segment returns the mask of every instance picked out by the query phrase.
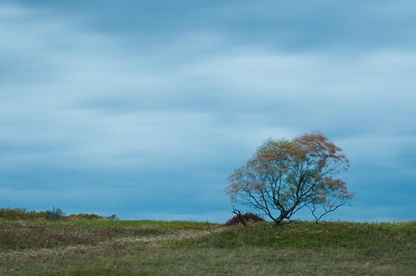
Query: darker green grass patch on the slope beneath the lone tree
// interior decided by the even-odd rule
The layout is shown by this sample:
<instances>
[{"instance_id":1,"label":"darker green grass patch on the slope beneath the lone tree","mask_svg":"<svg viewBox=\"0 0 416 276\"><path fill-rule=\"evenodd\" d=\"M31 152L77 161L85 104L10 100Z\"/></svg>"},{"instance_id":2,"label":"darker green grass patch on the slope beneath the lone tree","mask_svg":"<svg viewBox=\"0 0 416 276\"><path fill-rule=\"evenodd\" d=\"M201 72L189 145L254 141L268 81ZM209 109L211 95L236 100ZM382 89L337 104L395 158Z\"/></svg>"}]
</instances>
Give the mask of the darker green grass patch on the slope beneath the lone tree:
<instances>
[{"instance_id":1,"label":"darker green grass patch on the slope beneath the lone tree","mask_svg":"<svg viewBox=\"0 0 416 276\"><path fill-rule=\"evenodd\" d=\"M310 222L257 223L248 227L234 227L198 242L188 241L178 246L193 248L238 248L252 246L272 249L317 250L342 248L354 251L390 252L413 248L416 222L411 223L328 223Z\"/></svg>"}]
</instances>

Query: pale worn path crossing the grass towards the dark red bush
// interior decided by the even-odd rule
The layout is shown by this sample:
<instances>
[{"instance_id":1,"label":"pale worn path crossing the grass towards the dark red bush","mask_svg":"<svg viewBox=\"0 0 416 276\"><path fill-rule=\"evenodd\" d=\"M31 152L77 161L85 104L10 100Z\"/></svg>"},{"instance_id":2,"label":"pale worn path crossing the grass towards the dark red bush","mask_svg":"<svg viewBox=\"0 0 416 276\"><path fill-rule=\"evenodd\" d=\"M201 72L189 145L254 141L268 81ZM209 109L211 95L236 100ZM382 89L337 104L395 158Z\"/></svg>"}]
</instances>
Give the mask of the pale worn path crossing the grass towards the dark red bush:
<instances>
[{"instance_id":1,"label":"pale worn path crossing the grass towards the dark red bush","mask_svg":"<svg viewBox=\"0 0 416 276\"><path fill-rule=\"evenodd\" d=\"M189 239L197 239L201 236L212 234L220 230L214 230L209 232L207 230L200 231L181 231L173 234L161 234L154 236L129 236L122 238L114 238L109 241L101 241L93 245L68 245L59 248L37 248L37 249L26 249L18 250L13 252L0 253L0 262L15 261L24 259L61 259L76 255L80 252L101 252L106 249L134 245L138 243L164 243L168 241L184 241Z\"/></svg>"}]
</instances>

